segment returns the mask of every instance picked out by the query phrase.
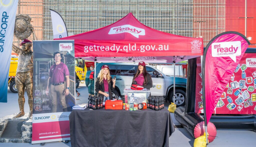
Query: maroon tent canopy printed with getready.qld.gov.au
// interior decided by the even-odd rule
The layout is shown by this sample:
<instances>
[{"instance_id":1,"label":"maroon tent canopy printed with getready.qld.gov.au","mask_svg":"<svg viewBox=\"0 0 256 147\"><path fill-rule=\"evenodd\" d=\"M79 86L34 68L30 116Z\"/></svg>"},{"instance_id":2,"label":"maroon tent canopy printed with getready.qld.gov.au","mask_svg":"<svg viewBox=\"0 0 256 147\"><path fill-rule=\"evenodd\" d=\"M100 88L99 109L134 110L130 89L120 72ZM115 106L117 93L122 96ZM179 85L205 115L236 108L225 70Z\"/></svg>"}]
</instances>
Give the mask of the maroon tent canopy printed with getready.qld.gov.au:
<instances>
[{"instance_id":1,"label":"maroon tent canopy printed with getready.qld.gov.au","mask_svg":"<svg viewBox=\"0 0 256 147\"><path fill-rule=\"evenodd\" d=\"M180 62L203 55L204 48L202 38L158 31L132 13L104 28L55 40L75 40L75 57L97 62Z\"/></svg>"}]
</instances>

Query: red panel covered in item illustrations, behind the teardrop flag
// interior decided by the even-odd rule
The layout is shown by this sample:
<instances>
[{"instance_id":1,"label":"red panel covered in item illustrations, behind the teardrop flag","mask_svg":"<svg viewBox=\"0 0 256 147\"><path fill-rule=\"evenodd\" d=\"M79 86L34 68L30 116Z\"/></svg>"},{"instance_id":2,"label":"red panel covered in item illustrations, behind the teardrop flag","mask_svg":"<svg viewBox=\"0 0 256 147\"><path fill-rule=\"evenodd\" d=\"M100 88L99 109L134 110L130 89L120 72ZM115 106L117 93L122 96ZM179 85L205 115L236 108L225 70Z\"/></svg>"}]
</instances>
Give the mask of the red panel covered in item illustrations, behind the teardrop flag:
<instances>
[{"instance_id":1,"label":"red panel covered in item illustrations, behind the teardrop flag","mask_svg":"<svg viewBox=\"0 0 256 147\"><path fill-rule=\"evenodd\" d=\"M196 113L204 113L200 58L197 59ZM256 114L256 54L245 53L221 94L214 114Z\"/></svg>"}]
</instances>

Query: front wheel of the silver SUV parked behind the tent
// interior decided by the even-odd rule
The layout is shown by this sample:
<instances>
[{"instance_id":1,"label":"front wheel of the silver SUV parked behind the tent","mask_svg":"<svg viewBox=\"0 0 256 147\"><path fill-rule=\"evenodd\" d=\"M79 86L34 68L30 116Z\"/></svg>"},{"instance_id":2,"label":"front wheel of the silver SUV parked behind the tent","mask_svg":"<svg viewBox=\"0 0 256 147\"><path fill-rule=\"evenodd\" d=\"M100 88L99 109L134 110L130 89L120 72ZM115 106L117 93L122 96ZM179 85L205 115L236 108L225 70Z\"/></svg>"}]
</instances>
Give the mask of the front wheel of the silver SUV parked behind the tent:
<instances>
[{"instance_id":1,"label":"front wheel of the silver SUV parked behind the tent","mask_svg":"<svg viewBox=\"0 0 256 147\"><path fill-rule=\"evenodd\" d=\"M174 102L173 91L168 96L169 103ZM175 90L176 107L184 106L186 102L186 92L180 89Z\"/></svg>"}]
</instances>

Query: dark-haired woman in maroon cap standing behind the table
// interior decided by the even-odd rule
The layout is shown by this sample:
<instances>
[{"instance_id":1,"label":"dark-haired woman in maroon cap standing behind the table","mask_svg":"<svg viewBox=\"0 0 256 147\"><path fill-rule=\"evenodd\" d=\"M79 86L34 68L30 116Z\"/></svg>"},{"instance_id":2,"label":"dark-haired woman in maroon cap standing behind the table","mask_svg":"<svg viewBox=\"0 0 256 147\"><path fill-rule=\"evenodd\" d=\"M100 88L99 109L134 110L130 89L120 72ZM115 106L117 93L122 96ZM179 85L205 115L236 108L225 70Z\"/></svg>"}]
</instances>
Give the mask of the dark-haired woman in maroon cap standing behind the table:
<instances>
[{"instance_id":1,"label":"dark-haired woman in maroon cap standing behind the table","mask_svg":"<svg viewBox=\"0 0 256 147\"><path fill-rule=\"evenodd\" d=\"M136 81L136 82L135 82ZM137 84L136 84L137 83ZM143 86L147 90L153 87L151 75L146 71L145 62L139 62L137 73L134 75L133 83L136 85Z\"/></svg>"}]
</instances>

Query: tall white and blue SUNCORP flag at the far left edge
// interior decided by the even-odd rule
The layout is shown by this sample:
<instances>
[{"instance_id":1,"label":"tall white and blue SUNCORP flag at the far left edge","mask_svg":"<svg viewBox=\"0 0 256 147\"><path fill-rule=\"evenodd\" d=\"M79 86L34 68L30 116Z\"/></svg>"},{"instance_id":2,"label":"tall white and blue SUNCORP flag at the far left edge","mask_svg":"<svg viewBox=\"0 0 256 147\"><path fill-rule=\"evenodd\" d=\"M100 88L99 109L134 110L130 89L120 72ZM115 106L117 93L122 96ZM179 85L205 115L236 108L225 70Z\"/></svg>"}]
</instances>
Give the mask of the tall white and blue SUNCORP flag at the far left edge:
<instances>
[{"instance_id":1,"label":"tall white and blue SUNCORP flag at the far left edge","mask_svg":"<svg viewBox=\"0 0 256 147\"><path fill-rule=\"evenodd\" d=\"M0 0L0 102L7 102L9 68L18 0Z\"/></svg>"}]
</instances>

